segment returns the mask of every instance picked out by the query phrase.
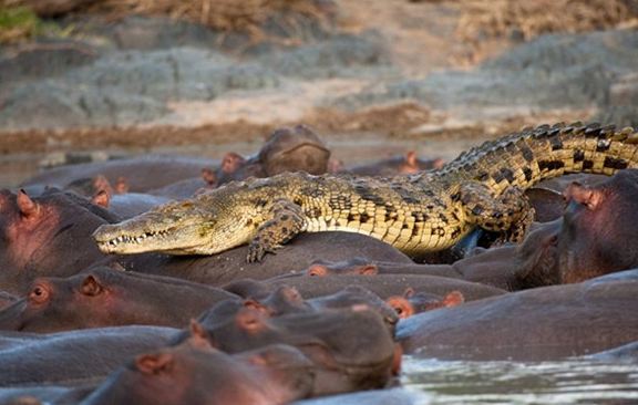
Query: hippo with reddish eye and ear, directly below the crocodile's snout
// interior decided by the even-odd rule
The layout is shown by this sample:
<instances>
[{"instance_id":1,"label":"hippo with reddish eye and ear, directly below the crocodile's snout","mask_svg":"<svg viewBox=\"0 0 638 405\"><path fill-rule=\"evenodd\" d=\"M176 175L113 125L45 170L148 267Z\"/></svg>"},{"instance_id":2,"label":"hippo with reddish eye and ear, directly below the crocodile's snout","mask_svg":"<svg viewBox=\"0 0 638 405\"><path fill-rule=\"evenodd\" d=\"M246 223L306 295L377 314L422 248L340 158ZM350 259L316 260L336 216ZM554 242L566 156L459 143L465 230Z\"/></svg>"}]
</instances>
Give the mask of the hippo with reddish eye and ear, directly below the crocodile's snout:
<instances>
[{"instance_id":1,"label":"hippo with reddish eye and ear, directly below the crocodile's snout","mask_svg":"<svg viewBox=\"0 0 638 405\"><path fill-rule=\"evenodd\" d=\"M148 324L182 328L225 290L167 277L99 267L66 279L40 278L23 299L0 311L0 330L59 332Z\"/></svg>"}]
</instances>

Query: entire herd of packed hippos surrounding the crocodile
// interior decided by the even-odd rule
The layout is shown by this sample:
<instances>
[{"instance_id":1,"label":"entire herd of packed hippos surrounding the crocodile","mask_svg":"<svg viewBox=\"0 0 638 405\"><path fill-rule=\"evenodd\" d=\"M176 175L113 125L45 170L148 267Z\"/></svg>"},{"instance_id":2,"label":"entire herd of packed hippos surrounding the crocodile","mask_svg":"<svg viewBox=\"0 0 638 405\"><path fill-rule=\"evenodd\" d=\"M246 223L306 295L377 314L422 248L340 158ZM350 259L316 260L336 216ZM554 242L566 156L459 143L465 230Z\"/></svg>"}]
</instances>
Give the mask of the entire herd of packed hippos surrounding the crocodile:
<instances>
[{"instance_id":1,"label":"entire herd of packed hippos surrounding the crocodile","mask_svg":"<svg viewBox=\"0 0 638 405\"><path fill-rule=\"evenodd\" d=\"M526 191L536 221L521 243L474 232L419 260L338 231L261 262L246 246L105 255L91 238L249 176L440 165L409 153L348 167L300 125L250 157L63 166L0 191L0 403L337 404L377 390L361 403L381 404L395 403L403 354L638 359L636 169L544 181Z\"/></svg>"}]
</instances>

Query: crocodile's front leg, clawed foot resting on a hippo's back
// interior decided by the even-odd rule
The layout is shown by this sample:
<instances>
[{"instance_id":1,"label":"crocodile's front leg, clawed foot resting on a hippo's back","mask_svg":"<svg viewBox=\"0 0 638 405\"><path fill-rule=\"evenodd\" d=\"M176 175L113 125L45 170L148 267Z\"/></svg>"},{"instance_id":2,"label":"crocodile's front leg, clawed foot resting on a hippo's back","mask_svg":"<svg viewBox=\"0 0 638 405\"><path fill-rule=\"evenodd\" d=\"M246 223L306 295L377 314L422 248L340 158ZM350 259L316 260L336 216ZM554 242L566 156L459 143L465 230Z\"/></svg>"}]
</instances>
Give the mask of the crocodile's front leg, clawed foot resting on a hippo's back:
<instances>
[{"instance_id":1,"label":"crocodile's front leg, clawed foot resting on a hippo's back","mask_svg":"<svg viewBox=\"0 0 638 405\"><path fill-rule=\"evenodd\" d=\"M248 246L248 262L261 261L267 252L277 249L306 229L301 207L287 199L278 199L267 215L268 219L258 229Z\"/></svg>"}]
</instances>

